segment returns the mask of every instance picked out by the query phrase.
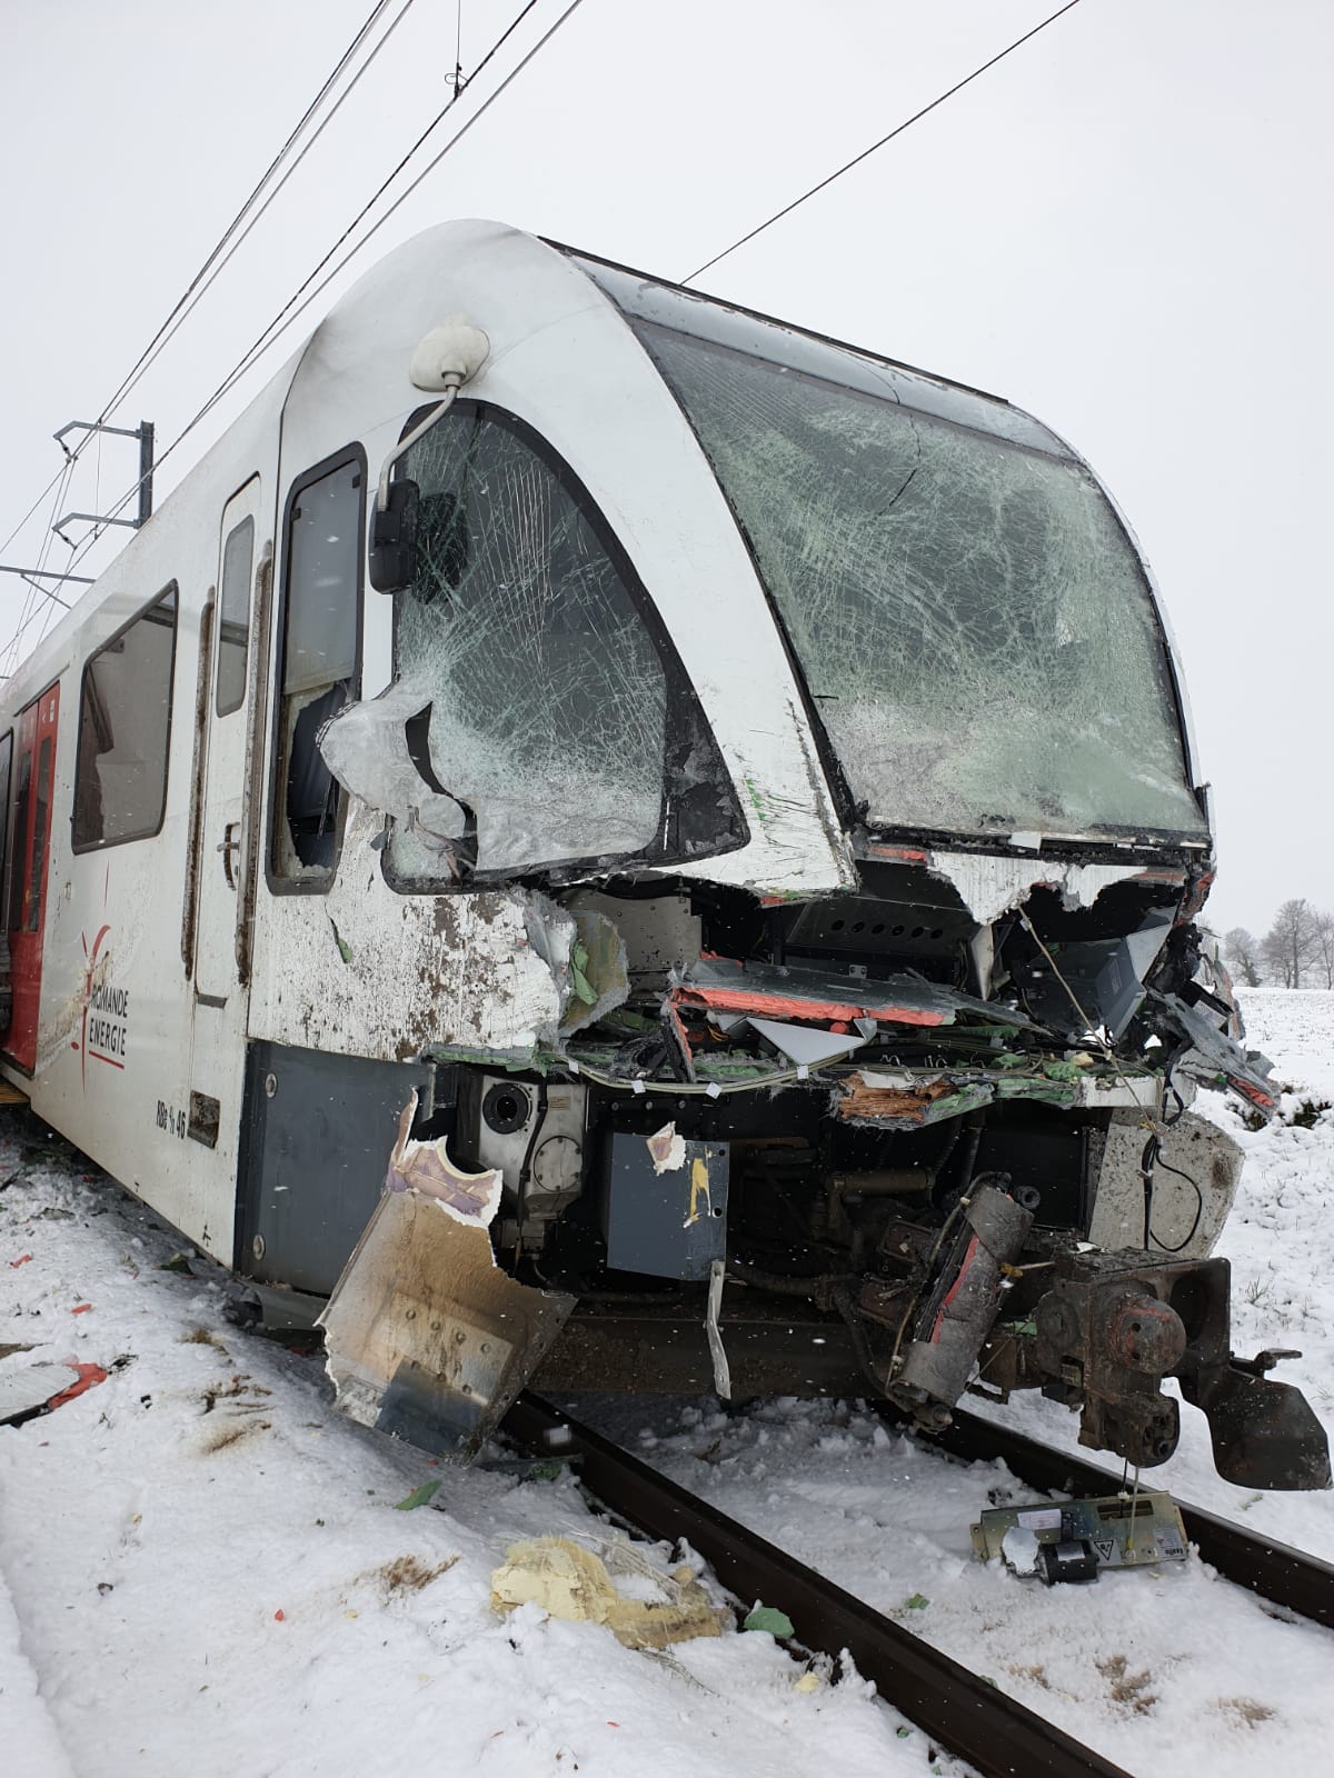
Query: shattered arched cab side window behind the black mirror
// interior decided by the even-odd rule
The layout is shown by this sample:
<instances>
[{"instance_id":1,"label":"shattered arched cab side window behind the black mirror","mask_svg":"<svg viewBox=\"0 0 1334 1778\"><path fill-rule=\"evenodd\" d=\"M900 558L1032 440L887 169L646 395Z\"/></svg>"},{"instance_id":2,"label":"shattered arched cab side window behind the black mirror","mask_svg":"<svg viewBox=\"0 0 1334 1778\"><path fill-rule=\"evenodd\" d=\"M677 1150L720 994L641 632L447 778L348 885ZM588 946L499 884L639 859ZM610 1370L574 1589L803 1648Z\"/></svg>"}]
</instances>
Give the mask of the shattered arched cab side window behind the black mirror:
<instances>
[{"instance_id":1,"label":"shattered arched cab side window behind the black mirror","mask_svg":"<svg viewBox=\"0 0 1334 1778\"><path fill-rule=\"evenodd\" d=\"M432 427L400 475L420 487L420 517L397 669L420 693L422 765L459 805L468 862L660 850L669 672L583 489L526 427L473 402ZM443 875L425 827L395 823L400 884Z\"/></svg>"}]
</instances>

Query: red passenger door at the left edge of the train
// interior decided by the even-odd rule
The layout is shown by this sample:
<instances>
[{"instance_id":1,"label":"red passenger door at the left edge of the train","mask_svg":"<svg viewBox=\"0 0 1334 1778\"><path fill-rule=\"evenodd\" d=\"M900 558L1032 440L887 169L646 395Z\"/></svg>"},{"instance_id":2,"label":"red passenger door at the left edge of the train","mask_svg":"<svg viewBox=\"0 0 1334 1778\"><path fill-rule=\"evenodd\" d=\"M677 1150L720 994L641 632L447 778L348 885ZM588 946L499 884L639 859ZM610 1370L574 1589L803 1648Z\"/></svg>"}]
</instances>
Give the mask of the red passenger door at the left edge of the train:
<instances>
[{"instance_id":1,"label":"red passenger door at the left edge of the train","mask_svg":"<svg viewBox=\"0 0 1334 1778\"><path fill-rule=\"evenodd\" d=\"M60 686L53 685L20 711L14 725L14 848L5 912L14 1012L4 1051L28 1074L37 1065L41 944L46 930L46 861L59 717Z\"/></svg>"}]
</instances>

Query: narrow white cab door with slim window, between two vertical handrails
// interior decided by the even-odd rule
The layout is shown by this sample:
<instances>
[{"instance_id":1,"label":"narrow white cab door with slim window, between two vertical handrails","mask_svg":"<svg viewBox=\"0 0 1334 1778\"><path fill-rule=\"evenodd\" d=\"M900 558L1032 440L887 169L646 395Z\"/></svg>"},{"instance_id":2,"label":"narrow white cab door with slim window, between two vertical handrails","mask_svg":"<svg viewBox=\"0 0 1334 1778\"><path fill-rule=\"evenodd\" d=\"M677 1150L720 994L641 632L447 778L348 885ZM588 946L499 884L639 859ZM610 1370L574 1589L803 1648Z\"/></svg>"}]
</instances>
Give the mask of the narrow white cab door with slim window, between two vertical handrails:
<instances>
[{"instance_id":1,"label":"narrow white cab door with slim window, between two vertical handrails","mask_svg":"<svg viewBox=\"0 0 1334 1778\"><path fill-rule=\"evenodd\" d=\"M258 526L260 477L256 475L222 509L213 674L205 715L208 745L199 823L194 985L197 1001L219 1008L240 992L237 937L244 917L244 887L238 885L242 855L249 855L249 846L242 846L242 823L253 813L245 784L247 702L254 677L249 669L251 651L263 649L263 638L253 635L251 610Z\"/></svg>"}]
</instances>

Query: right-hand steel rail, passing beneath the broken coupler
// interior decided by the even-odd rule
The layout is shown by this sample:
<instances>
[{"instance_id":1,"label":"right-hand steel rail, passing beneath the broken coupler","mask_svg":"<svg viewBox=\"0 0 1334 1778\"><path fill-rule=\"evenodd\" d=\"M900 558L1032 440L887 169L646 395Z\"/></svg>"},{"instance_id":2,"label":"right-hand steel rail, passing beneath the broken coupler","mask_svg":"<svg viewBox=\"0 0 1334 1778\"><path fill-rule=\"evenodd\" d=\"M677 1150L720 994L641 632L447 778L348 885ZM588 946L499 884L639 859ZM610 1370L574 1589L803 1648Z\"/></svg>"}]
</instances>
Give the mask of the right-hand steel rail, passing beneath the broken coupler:
<instances>
[{"instance_id":1,"label":"right-hand steel rail, passing beneath the broken coupler","mask_svg":"<svg viewBox=\"0 0 1334 1778\"><path fill-rule=\"evenodd\" d=\"M907 1426L907 1417L888 1403L873 1401L870 1406L900 1430ZM941 1433L923 1433L921 1442L939 1446L950 1456L969 1463L1000 1458L1030 1488L1046 1492L1106 1495L1119 1494L1122 1485L1122 1478L1112 1470L1087 1463L1069 1451L1055 1451L975 1414L955 1412L952 1426ZM1334 1629L1332 1563L1307 1556L1290 1543L1279 1543L1277 1538L1243 1531L1242 1526L1202 1506L1188 1506L1185 1501L1176 1504L1190 1542L1227 1581L1259 1593L1274 1606L1311 1618L1313 1623Z\"/></svg>"}]
</instances>

